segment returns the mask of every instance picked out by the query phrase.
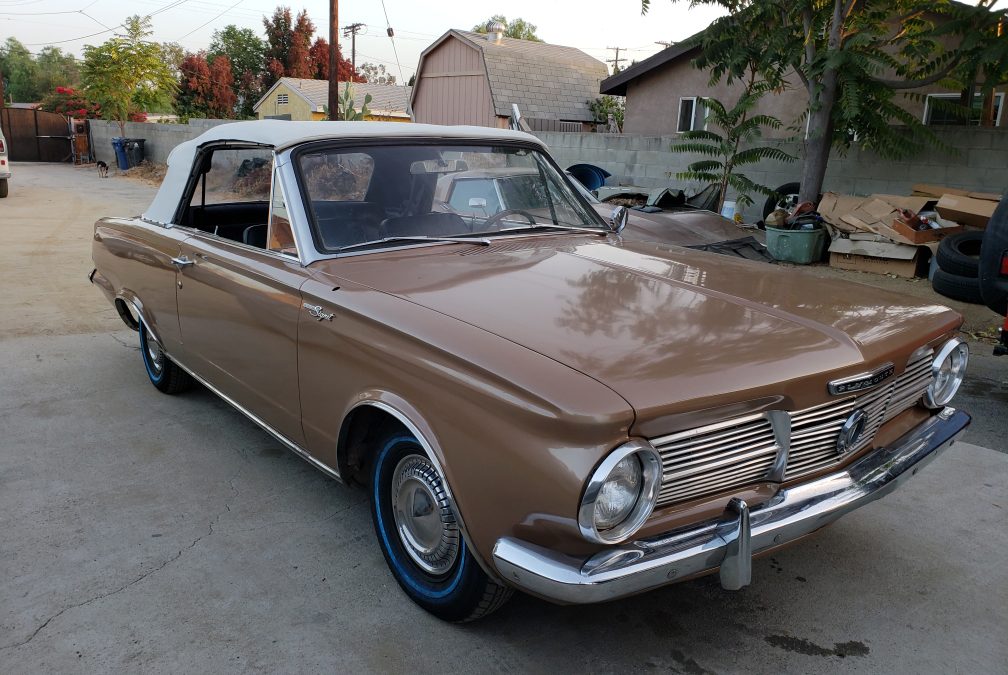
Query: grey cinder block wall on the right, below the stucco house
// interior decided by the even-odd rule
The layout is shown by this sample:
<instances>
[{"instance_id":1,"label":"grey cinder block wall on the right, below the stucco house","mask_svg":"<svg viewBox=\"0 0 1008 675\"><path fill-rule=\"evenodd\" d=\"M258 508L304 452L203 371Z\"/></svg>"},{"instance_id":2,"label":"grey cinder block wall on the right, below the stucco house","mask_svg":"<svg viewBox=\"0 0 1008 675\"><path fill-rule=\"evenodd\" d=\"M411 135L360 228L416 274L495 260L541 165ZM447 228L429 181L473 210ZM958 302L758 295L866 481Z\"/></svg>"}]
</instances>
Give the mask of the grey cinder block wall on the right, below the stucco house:
<instances>
[{"instance_id":1,"label":"grey cinder block wall on the right, below the stucco house","mask_svg":"<svg viewBox=\"0 0 1008 675\"><path fill-rule=\"evenodd\" d=\"M687 190L699 186L674 176L700 159L697 155L673 153L669 147L675 136L634 136L616 134L569 134L535 132L560 166L581 162L596 164L613 174L610 184L661 187L673 185ZM908 194L915 182L928 182L984 192L1008 189L1008 130L944 129L938 138L948 146L934 148L902 160L882 159L871 150L856 146L846 156L836 153L830 160L824 189L852 194ZM798 142L764 141L801 156ZM760 162L743 172L758 183L777 187L797 181L801 165ZM729 194L728 198L733 198ZM765 197L753 195L755 204L746 219L762 216Z\"/></svg>"}]
</instances>

